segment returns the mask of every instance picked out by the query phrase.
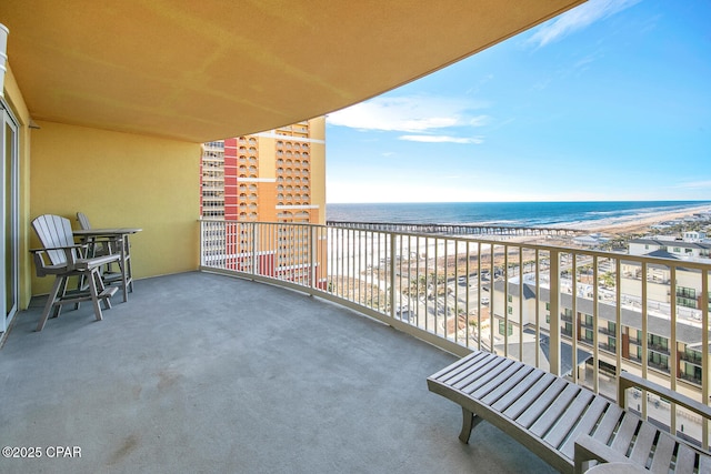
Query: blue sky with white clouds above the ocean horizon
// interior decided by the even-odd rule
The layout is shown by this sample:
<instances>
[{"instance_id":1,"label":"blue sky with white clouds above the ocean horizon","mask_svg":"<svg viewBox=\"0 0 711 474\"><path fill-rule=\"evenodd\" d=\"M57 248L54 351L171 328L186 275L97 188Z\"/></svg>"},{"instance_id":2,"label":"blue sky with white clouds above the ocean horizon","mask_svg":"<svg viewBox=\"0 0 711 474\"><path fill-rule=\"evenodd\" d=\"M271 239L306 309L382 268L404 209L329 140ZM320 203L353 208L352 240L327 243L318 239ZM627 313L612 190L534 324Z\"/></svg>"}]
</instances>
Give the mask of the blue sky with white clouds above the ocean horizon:
<instances>
[{"instance_id":1,"label":"blue sky with white clouds above the ocean horizon","mask_svg":"<svg viewBox=\"0 0 711 474\"><path fill-rule=\"evenodd\" d=\"M591 0L327 118L327 202L711 200L711 1Z\"/></svg>"}]
</instances>

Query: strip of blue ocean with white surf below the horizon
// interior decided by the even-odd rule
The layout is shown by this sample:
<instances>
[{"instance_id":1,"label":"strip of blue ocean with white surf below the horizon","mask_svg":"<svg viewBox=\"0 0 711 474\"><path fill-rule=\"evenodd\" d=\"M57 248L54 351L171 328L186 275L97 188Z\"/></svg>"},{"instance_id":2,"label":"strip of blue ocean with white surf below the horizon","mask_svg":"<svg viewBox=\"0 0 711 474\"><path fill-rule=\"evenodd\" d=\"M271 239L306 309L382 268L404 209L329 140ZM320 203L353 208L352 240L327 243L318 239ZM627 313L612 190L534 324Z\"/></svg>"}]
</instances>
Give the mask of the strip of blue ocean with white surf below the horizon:
<instances>
[{"instance_id":1,"label":"strip of blue ocean with white surf below the horizon","mask_svg":"<svg viewBox=\"0 0 711 474\"><path fill-rule=\"evenodd\" d=\"M711 204L711 201L451 202L327 204L327 220L551 228L633 220Z\"/></svg>"}]
</instances>

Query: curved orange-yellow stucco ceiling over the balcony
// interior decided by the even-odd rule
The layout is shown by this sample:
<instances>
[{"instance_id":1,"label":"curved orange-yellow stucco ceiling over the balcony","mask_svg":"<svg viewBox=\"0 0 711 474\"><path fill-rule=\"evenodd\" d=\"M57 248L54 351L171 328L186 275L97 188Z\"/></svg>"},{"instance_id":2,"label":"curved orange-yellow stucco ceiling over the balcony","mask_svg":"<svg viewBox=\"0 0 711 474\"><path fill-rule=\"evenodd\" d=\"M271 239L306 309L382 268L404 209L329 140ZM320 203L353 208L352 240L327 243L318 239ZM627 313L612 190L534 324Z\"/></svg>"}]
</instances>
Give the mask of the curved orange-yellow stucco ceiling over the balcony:
<instances>
[{"instance_id":1,"label":"curved orange-yellow stucco ceiling over the balcony","mask_svg":"<svg viewBox=\"0 0 711 474\"><path fill-rule=\"evenodd\" d=\"M582 0L2 0L34 120L204 142L321 115Z\"/></svg>"}]
</instances>

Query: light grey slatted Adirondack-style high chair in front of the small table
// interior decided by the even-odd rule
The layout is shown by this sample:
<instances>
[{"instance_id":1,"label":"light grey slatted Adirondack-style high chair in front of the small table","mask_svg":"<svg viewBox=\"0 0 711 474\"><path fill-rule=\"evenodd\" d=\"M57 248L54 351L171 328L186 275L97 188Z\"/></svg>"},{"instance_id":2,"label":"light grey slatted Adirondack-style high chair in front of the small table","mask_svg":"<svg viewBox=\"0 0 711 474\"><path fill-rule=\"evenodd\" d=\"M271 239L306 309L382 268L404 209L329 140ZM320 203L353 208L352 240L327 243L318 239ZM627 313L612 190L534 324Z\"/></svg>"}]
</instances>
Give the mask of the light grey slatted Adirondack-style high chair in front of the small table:
<instances>
[{"instance_id":1,"label":"light grey slatted Adirondack-style high chair in front of the small table","mask_svg":"<svg viewBox=\"0 0 711 474\"><path fill-rule=\"evenodd\" d=\"M38 276L54 275L54 284L44 305L44 311L37 325L42 331L47 320L59 316L63 304L73 303L79 307L82 301L91 301L97 321L102 320L101 305L111 307L111 296L118 291L116 286L106 286L101 280L101 265L118 262L120 255L108 254L87 258L86 244L76 244L69 219L60 215L44 214L32 221L32 228L43 245L43 249L31 250L34 258ZM78 276L76 290L68 290L69 279ZM82 288L82 283L86 288Z\"/></svg>"}]
</instances>

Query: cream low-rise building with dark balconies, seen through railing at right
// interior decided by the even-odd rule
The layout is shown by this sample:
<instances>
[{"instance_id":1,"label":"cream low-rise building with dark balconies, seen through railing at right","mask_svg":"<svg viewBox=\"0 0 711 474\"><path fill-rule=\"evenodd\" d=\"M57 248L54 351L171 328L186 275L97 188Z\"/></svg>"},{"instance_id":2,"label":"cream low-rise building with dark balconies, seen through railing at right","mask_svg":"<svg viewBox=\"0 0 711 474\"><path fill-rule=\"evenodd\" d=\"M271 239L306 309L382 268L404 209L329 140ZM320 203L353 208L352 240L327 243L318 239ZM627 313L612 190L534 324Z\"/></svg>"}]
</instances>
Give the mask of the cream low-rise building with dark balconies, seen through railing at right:
<instances>
[{"instance_id":1,"label":"cream low-rise building with dark balconies, seen through railing at right","mask_svg":"<svg viewBox=\"0 0 711 474\"><path fill-rule=\"evenodd\" d=\"M507 288L505 292L504 288ZM521 303L520 295L523 296ZM498 281L494 283L493 300L491 327L499 341L515 337L518 331L535 327L537 301L539 301L538 317L541 331L550 333L551 294L548 288L540 288L540 295L537 299L534 284L524 283L523 289L520 289L518 281L509 281L508 284ZM677 341L674 347L673 343L670 344L674 337L672 337L669 317L648 311L643 321L641 311L622 307L619 320L620 337L618 337L617 306L613 303L598 301L597 314L593 306L594 300L578 295L575 314L573 314L572 294L561 293L560 295L562 343L572 346L573 339L575 340L575 346L579 350L575 364L581 369L579 376L584 376L582 369L585 364L592 364L595 343L598 365L601 371L609 372L610 375L614 375L618 365L615 355L618 350L621 352L621 370L641 371L645 345L648 354L645 364L648 370L653 372L648 374L649 379L664 382L673 374L687 393L698 395L703 377L701 365L703 334L700 324L678 317L673 329ZM522 314L520 314L520 307L522 307ZM520 326L522 330L519 329ZM643 341L643 331L647 331L647 341ZM711 333L709 335L711 336ZM544 349L540 347L540 351L547 354ZM532 357L532 351L524 353L524 359ZM524 362L534 364L533 360L524 360Z\"/></svg>"}]
</instances>

